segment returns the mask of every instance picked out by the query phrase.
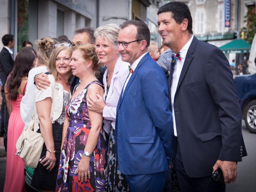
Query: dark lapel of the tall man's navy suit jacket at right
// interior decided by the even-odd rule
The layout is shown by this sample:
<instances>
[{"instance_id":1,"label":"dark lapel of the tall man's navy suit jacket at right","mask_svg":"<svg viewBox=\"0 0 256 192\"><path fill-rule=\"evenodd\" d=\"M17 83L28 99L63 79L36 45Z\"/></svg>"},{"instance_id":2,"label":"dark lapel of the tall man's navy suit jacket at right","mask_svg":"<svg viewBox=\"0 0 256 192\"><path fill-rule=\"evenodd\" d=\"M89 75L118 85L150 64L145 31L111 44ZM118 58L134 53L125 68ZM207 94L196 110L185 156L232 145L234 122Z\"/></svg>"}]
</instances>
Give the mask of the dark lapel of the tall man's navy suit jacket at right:
<instances>
[{"instance_id":1,"label":"dark lapel of the tall man's navy suit jacket at right","mask_svg":"<svg viewBox=\"0 0 256 192\"><path fill-rule=\"evenodd\" d=\"M180 87L180 84L188 70L188 67L190 66L190 63L192 62L192 60L194 58L194 56L192 54L195 52L197 43L198 43L198 39L194 36L194 38L188 48L188 52L186 54L186 58L185 58L184 65L183 65L181 73L180 73L180 78L178 81L176 92L177 92L178 88Z\"/></svg>"}]
</instances>

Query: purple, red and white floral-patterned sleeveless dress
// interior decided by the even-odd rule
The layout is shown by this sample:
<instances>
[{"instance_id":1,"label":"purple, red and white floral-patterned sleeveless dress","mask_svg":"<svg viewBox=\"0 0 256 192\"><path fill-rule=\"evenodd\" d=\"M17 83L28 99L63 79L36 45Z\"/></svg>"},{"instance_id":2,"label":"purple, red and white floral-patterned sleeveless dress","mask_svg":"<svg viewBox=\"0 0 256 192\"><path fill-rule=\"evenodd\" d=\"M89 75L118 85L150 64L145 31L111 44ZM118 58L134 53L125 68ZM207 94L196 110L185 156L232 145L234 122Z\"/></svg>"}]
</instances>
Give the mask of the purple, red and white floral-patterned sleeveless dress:
<instances>
[{"instance_id":1,"label":"purple, red and white floral-patterned sleeveless dress","mask_svg":"<svg viewBox=\"0 0 256 192\"><path fill-rule=\"evenodd\" d=\"M82 158L88 139L91 124L88 115L86 92L91 84L100 84L93 81L66 106L68 129L64 139L63 150L60 156L56 192L84 192L106 191L106 136L103 129L98 136L98 143L90 159L90 179L78 182L78 163ZM75 90L78 88L76 86ZM76 174L75 174L76 172Z\"/></svg>"}]
</instances>

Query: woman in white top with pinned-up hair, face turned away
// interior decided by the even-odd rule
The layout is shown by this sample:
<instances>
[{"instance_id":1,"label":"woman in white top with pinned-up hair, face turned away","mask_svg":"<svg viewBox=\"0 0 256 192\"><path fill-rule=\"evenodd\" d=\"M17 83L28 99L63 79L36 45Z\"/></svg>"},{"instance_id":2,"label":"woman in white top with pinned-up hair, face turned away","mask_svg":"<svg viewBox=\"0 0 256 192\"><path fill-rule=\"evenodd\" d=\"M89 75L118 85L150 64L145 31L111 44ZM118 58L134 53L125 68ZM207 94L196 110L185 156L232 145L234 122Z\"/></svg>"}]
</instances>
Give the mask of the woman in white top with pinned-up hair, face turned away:
<instances>
[{"instance_id":1,"label":"woman in white top with pinned-up hair, face turned away","mask_svg":"<svg viewBox=\"0 0 256 192\"><path fill-rule=\"evenodd\" d=\"M36 90L36 86L34 85L34 76L36 74L49 71L48 66L49 66L50 55L56 43L57 43L56 40L54 40L54 38L52 37L42 38L36 42L37 60L36 60L35 68L32 68L28 73L28 84L26 86L26 93L22 97L22 100L20 103L20 114L21 114L22 121L24 122L24 129L28 126L28 124L32 120L32 114L35 108L34 92ZM25 166L25 169L26 169L25 188L28 192L35 191L36 189L34 189L31 186L34 169L27 166Z\"/></svg>"}]
</instances>

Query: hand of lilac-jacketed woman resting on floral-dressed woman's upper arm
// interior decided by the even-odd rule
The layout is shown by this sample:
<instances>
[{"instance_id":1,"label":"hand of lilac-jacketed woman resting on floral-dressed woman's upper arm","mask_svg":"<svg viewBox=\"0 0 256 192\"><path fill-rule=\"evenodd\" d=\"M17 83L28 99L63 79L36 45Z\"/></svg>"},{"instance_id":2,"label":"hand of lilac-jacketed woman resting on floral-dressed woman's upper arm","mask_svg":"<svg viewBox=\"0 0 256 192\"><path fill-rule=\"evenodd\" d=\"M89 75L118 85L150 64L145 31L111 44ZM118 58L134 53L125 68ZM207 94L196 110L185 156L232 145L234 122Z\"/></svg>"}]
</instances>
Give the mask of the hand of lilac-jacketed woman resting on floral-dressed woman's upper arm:
<instances>
[{"instance_id":1,"label":"hand of lilac-jacketed woman resting on floral-dressed woman's upper arm","mask_svg":"<svg viewBox=\"0 0 256 192\"><path fill-rule=\"evenodd\" d=\"M102 113L106 103L102 96L96 93L97 98L93 98L90 94L87 96L87 107L97 113Z\"/></svg>"}]
</instances>

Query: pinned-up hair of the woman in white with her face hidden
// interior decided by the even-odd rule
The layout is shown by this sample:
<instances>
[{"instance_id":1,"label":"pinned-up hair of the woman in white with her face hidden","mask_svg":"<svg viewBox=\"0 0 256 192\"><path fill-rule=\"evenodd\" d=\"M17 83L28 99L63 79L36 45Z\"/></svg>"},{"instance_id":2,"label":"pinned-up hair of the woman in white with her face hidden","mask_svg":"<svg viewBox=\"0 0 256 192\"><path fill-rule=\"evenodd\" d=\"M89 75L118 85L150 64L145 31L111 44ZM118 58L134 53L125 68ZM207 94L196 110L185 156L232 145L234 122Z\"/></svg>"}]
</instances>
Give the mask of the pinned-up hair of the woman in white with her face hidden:
<instances>
[{"instance_id":1,"label":"pinned-up hair of the woman in white with her face hidden","mask_svg":"<svg viewBox=\"0 0 256 192\"><path fill-rule=\"evenodd\" d=\"M38 56L38 64L49 65L50 55L57 41L52 37L41 38L36 42L36 53Z\"/></svg>"}]
</instances>

